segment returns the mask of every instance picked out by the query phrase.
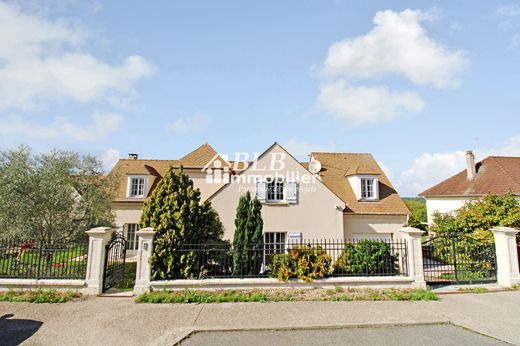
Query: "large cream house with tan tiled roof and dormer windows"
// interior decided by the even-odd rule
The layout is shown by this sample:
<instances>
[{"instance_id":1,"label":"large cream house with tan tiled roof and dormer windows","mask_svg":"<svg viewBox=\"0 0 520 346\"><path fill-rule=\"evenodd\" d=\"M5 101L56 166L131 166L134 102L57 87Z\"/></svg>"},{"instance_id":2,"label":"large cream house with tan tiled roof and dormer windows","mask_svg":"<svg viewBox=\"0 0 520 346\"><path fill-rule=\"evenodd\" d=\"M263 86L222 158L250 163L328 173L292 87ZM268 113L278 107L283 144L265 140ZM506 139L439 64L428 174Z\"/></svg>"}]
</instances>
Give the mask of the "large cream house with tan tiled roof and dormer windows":
<instances>
[{"instance_id":1,"label":"large cream house with tan tiled roof and dormer windows","mask_svg":"<svg viewBox=\"0 0 520 346\"><path fill-rule=\"evenodd\" d=\"M309 162L299 162L274 143L253 161L230 161L204 144L179 160L132 154L114 166L110 174L120 186L113 209L130 251L137 250L143 203L169 166L183 166L202 201L211 201L218 212L229 240L246 191L263 204L266 242L391 239L407 221L408 209L370 154L314 152Z\"/></svg>"}]
</instances>

